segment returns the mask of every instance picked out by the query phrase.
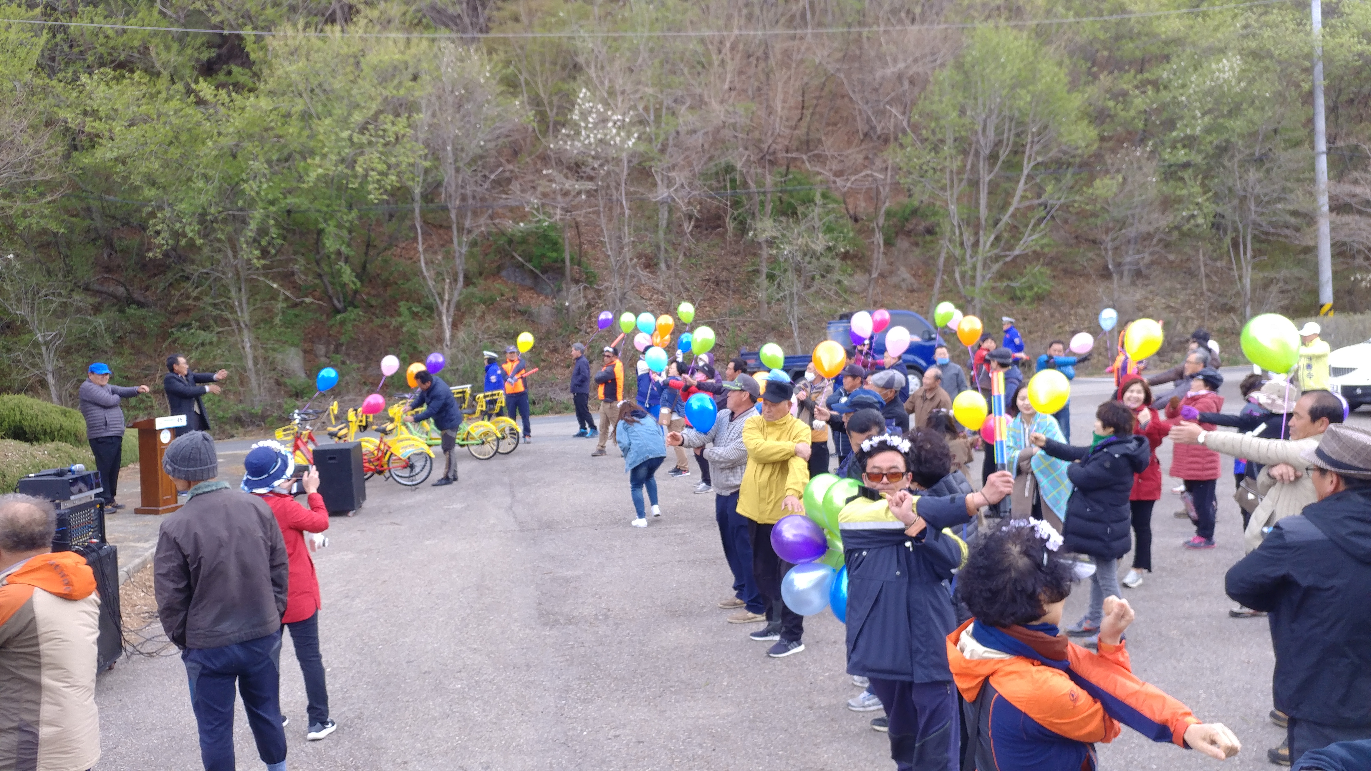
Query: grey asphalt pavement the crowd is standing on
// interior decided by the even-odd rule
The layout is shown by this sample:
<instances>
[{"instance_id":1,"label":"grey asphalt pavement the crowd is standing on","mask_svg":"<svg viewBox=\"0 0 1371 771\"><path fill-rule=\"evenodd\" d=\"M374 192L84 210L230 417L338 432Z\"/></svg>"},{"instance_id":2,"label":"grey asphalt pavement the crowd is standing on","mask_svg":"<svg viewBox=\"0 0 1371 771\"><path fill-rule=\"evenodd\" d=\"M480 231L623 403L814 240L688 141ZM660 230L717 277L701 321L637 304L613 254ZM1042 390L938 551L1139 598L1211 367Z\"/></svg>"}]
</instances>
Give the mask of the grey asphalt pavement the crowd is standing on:
<instances>
[{"instance_id":1,"label":"grey asphalt pavement the crowd is standing on","mask_svg":"<svg viewBox=\"0 0 1371 771\"><path fill-rule=\"evenodd\" d=\"M1241 377L1241 374L1239 374ZM1230 377L1230 383L1237 378ZM1076 441L1108 383L1078 381ZM1231 390L1231 393L1230 393ZM1235 390L1226 388L1230 408ZM306 742L304 689L289 644L282 707L291 768L890 768L872 713L845 708L843 627L808 619L806 650L766 659L753 627L714 603L729 575L713 496L662 478L665 515L629 527L617 453L590 457L574 422L542 420L509 457L462 457L457 488L373 481L356 518L335 519L318 556L321 635L340 729ZM1169 463L1169 445L1163 460ZM1171 486L1169 483L1167 485ZM1220 481L1219 548L1180 548L1189 520L1154 518L1156 572L1124 590L1138 614L1134 670L1243 741L1223 768L1268 768L1272 655L1264 620L1227 616L1223 572L1242 555L1231 478ZM1089 596L1068 604L1075 620ZM197 768L195 720L175 657L103 674L100 770ZM240 768L260 768L239 711ZM1102 768L1212 768L1126 734Z\"/></svg>"}]
</instances>

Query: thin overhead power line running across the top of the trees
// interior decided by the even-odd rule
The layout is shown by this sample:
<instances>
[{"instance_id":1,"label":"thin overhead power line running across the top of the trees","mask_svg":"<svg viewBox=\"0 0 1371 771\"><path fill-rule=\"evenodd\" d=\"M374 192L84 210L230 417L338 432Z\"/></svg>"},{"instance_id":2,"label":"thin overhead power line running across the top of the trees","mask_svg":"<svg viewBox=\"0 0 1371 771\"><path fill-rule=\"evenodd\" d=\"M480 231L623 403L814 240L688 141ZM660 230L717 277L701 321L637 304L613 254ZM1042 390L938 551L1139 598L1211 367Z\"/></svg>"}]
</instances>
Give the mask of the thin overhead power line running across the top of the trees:
<instances>
[{"instance_id":1,"label":"thin overhead power line running across the top of the trees","mask_svg":"<svg viewBox=\"0 0 1371 771\"><path fill-rule=\"evenodd\" d=\"M140 25L108 25L96 22L62 22L49 19L0 19L0 23L11 25L36 25L36 26L59 26L59 27L92 27L92 29L111 29L111 30L130 30L130 31L188 31L188 33L207 33L207 34L241 34L241 36L258 36L258 37L395 37L395 38L462 38L462 40L522 40L522 38L611 38L611 37L648 37L648 38L670 38L670 37L728 37L728 36L743 36L743 37L771 37L771 36L786 36L786 34L868 34L868 33L891 33L891 31L917 31L917 30L954 30L954 29L975 29L982 26L1010 26L1010 27L1032 27L1032 26L1053 26L1053 25L1072 25L1084 22L1113 22L1123 19L1148 19L1154 16L1175 16L1183 14L1205 14L1209 11L1228 11L1235 8L1253 8L1257 5L1276 5L1287 4L1289 0L1252 0L1249 3L1228 3L1224 5L1202 5L1198 8L1176 8L1171 11L1141 11L1134 14L1109 14L1100 16L1068 16L1060 19L1012 19L1012 21L990 21L990 22L939 22L928 25L897 25L897 26L868 26L868 27L816 27L816 29L751 29L751 30L622 30L622 31L488 31L488 33L473 33L463 34L455 31L447 33L409 33L409 31L362 31L362 33L347 33L347 31L274 31L274 30L217 30L217 29L199 29L199 27L156 27L156 26L140 26Z\"/></svg>"}]
</instances>

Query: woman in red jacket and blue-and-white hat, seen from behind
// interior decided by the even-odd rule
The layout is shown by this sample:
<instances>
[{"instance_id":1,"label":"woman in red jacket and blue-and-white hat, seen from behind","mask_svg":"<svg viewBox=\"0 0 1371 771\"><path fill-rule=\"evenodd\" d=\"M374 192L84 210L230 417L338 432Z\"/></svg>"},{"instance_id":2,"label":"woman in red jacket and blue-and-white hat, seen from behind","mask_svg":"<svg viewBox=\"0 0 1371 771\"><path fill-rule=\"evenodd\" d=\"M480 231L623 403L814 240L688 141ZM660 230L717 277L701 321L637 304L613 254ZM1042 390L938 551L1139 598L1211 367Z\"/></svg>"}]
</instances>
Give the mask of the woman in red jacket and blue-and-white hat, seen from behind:
<instances>
[{"instance_id":1,"label":"woman in red jacket and blue-and-white hat, seen from behind","mask_svg":"<svg viewBox=\"0 0 1371 771\"><path fill-rule=\"evenodd\" d=\"M310 557L313 545L306 545L307 533L329 529L329 509L319 494L319 472L311 466L300 479L300 486L310 496L310 508L304 508L291 496L293 453L280 442L267 440L252 445L243 460L243 489L260 496L271 507L285 538L291 582L281 623L291 630L291 644L310 700L310 726L304 738L318 741L337 729L337 723L329 719L329 692L324 682L324 656L319 655L319 579L314 575L314 560Z\"/></svg>"}]
</instances>

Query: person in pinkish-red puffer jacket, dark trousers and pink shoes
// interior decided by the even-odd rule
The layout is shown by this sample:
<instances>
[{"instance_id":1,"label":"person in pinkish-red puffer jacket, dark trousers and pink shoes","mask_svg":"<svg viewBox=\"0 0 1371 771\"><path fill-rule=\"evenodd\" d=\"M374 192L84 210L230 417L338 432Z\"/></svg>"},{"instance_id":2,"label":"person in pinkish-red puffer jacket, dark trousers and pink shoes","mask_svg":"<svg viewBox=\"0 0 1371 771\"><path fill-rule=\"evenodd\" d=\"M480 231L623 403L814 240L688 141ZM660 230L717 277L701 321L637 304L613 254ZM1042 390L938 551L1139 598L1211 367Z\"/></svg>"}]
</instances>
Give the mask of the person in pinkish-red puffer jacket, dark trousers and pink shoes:
<instances>
[{"instance_id":1,"label":"person in pinkish-red puffer jacket, dark trousers and pink shoes","mask_svg":"<svg viewBox=\"0 0 1371 771\"><path fill-rule=\"evenodd\" d=\"M1190 381L1190 393L1185 399L1171 397L1167 404L1167 419L1186 420L1194 423L1201 412L1222 412L1223 397L1219 388L1223 385L1223 375L1213 367L1205 367L1196 372ZM1206 431L1215 430L1213 423L1200 423ZM1219 453L1198 445L1174 445L1171 452L1171 475L1186 483L1186 507L1190 509L1190 519L1196 523L1196 534L1183 545L1187 549L1213 548L1213 520L1219 512L1219 498L1215 489L1220 471Z\"/></svg>"}]
</instances>

